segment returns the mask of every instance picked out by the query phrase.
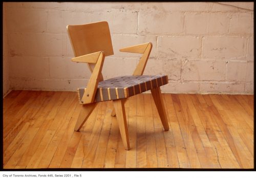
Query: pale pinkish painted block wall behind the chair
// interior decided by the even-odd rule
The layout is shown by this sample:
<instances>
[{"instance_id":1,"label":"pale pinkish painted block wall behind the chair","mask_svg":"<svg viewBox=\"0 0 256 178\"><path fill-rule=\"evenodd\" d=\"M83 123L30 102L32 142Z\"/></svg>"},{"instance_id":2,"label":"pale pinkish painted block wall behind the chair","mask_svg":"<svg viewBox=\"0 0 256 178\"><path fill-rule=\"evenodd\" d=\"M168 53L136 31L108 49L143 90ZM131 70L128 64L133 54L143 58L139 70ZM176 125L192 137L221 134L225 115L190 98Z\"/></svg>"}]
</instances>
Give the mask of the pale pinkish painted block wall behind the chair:
<instances>
[{"instance_id":1,"label":"pale pinkish painted block wall behind the chair","mask_svg":"<svg viewBox=\"0 0 256 178\"><path fill-rule=\"evenodd\" d=\"M253 3L4 3L11 89L75 91L90 71L74 63L66 26L106 20L114 55L105 79L131 75L153 43L144 74L167 74L165 93L253 93ZM242 8L239 8L242 7ZM4 66L5 68L5 66Z\"/></svg>"}]
</instances>

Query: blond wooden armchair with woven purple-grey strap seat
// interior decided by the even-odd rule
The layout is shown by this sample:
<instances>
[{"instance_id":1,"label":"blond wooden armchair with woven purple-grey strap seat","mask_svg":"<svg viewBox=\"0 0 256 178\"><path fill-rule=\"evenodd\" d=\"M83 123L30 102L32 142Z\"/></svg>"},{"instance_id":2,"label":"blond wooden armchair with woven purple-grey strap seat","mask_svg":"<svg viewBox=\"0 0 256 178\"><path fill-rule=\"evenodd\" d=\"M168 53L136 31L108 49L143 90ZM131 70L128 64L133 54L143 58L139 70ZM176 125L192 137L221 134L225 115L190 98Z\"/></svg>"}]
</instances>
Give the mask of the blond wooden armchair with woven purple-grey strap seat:
<instances>
[{"instance_id":1,"label":"blond wooden armchair with woven purple-grey strap seat","mask_svg":"<svg viewBox=\"0 0 256 178\"><path fill-rule=\"evenodd\" d=\"M103 80L101 70L104 58L114 54L108 23L99 21L85 25L68 25L67 29L75 55L72 61L88 63L92 72L87 86L77 89L82 109L76 122L75 131L80 130L98 102L113 100L114 108L111 115L116 115L124 148L129 150L124 103L127 98L148 90L151 90L164 130L169 130L160 91L160 86L167 84L168 78L166 75L142 75L152 49L151 42L120 49L121 52L142 54L132 76Z\"/></svg>"}]
</instances>

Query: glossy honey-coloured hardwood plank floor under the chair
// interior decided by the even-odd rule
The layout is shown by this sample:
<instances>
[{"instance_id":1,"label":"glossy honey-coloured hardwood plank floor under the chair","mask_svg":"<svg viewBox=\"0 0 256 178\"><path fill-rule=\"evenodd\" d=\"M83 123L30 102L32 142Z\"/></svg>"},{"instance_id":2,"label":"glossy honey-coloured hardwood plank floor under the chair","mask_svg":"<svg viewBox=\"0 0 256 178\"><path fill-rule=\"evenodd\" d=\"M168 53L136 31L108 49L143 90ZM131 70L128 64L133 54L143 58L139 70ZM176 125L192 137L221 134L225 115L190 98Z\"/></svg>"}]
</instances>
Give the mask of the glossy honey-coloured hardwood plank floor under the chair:
<instances>
[{"instance_id":1,"label":"glossy honey-coloured hardwood plank floor under the chair","mask_svg":"<svg viewBox=\"0 0 256 178\"><path fill-rule=\"evenodd\" d=\"M151 94L125 103L131 150L113 102L74 131L75 92L12 91L3 99L4 168L253 168L253 95L163 94L164 131Z\"/></svg>"}]
</instances>

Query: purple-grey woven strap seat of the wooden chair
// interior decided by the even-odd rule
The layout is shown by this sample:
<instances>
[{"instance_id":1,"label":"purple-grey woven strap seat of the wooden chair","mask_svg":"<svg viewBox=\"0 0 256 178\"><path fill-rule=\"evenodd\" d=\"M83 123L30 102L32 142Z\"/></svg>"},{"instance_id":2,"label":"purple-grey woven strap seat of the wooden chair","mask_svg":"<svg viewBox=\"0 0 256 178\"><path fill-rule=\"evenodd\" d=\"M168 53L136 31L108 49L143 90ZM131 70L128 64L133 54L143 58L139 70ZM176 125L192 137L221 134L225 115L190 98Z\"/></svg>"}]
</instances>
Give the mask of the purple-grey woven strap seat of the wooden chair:
<instances>
[{"instance_id":1,"label":"purple-grey woven strap seat of the wooden chair","mask_svg":"<svg viewBox=\"0 0 256 178\"><path fill-rule=\"evenodd\" d=\"M168 83L167 75L121 76L100 81L94 102L128 98ZM81 102L84 88L79 87L78 99Z\"/></svg>"}]
</instances>

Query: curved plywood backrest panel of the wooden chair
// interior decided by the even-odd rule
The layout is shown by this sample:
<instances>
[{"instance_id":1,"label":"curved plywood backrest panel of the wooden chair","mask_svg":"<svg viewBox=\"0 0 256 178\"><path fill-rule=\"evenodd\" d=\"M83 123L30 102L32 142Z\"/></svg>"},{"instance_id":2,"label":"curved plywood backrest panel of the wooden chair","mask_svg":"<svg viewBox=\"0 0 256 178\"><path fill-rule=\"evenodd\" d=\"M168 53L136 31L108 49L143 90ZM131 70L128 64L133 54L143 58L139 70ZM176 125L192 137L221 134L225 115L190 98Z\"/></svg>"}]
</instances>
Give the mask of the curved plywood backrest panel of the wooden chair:
<instances>
[{"instance_id":1,"label":"curved plywood backrest panel of the wooden chair","mask_svg":"<svg viewBox=\"0 0 256 178\"><path fill-rule=\"evenodd\" d=\"M114 54L108 22L68 25L67 29L75 57L98 51L104 51L105 56Z\"/></svg>"}]
</instances>

